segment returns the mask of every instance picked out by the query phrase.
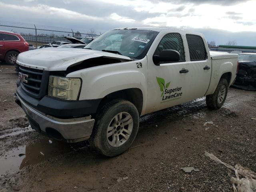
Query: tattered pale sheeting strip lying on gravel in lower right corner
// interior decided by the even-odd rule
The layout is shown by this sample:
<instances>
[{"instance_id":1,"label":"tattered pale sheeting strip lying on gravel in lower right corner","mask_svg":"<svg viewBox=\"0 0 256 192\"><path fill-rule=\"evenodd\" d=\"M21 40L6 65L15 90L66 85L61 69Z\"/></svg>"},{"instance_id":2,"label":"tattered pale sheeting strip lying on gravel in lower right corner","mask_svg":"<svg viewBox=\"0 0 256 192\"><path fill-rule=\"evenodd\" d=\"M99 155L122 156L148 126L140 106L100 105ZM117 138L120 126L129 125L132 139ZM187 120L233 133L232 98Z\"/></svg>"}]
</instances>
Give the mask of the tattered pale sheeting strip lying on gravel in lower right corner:
<instances>
[{"instance_id":1,"label":"tattered pale sheeting strip lying on gravel in lower right corner","mask_svg":"<svg viewBox=\"0 0 256 192\"><path fill-rule=\"evenodd\" d=\"M210 159L226 166L227 168L234 170L236 178L231 177L230 181L232 182L234 192L256 192L256 173L250 170L247 167L243 167L240 164L236 164L235 167L222 162L214 154L208 153L207 151L204 154ZM239 178L239 174L245 178Z\"/></svg>"}]
</instances>

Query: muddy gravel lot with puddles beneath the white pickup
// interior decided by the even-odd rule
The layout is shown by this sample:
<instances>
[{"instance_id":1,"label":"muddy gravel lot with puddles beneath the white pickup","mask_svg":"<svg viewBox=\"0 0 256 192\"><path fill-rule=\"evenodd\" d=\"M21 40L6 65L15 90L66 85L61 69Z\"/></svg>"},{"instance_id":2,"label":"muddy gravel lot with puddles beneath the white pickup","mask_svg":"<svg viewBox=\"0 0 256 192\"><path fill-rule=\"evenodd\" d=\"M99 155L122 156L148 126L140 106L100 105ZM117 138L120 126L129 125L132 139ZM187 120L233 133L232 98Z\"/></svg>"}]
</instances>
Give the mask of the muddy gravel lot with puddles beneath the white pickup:
<instances>
[{"instance_id":1,"label":"muddy gravel lot with puddles beneath the white pickup","mask_svg":"<svg viewBox=\"0 0 256 192\"><path fill-rule=\"evenodd\" d=\"M0 70L0 192L232 191L234 172L204 151L256 171L256 92L230 88L220 110L200 98L143 116L131 148L106 158L87 142L56 142L32 130L12 98L14 68L0 63ZM180 169L188 166L200 171Z\"/></svg>"}]
</instances>

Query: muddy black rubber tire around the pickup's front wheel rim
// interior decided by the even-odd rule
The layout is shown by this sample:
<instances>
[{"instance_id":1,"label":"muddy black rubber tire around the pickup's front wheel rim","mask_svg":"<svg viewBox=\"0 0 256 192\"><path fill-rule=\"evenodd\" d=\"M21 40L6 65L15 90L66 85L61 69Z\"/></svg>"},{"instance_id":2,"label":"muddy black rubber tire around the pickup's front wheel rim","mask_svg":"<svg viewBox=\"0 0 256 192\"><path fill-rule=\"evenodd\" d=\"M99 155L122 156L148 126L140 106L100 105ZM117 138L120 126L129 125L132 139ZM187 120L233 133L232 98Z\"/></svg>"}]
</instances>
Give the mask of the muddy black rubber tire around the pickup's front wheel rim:
<instances>
[{"instance_id":1,"label":"muddy black rubber tire around the pickup's front wheel rim","mask_svg":"<svg viewBox=\"0 0 256 192\"><path fill-rule=\"evenodd\" d=\"M120 146L111 146L109 143L110 139L107 137L107 133L110 133L109 127L110 125L111 127L113 127L113 124L115 124L116 126L117 122L115 121L114 117L120 113L122 117L123 112L124 114L129 114L132 118L133 124L132 125L129 124L130 127L132 126L132 131L129 134L128 139L126 141L123 141L123 143ZM123 117L126 117L126 116L123 115ZM97 150L98 152L100 152L105 156L116 156L126 151L134 141L139 128L139 114L138 114L137 108L131 102L127 100L122 100L122 99L115 99L105 104L96 115L95 120L96 121L94 124L94 128L92 130L92 135L90 137L89 142L95 150ZM118 117L118 120L119 120L119 117ZM123 126L127 126L127 125L123 124ZM123 130L125 129L125 127L121 127L121 128ZM117 129L118 127L115 128L115 130ZM120 136L120 138L123 138L123 137ZM114 140L114 133L113 133L113 140Z\"/></svg>"}]
</instances>

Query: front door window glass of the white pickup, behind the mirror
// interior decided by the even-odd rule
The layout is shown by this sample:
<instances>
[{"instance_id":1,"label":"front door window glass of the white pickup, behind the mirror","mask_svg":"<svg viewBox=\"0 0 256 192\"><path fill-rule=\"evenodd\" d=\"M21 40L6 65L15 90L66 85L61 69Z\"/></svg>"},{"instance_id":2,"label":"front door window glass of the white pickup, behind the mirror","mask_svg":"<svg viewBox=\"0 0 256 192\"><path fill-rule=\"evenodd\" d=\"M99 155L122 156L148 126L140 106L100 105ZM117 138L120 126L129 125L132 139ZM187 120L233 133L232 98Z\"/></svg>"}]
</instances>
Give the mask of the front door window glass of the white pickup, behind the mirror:
<instances>
[{"instance_id":1,"label":"front door window glass of the white pickup, behind the mirror","mask_svg":"<svg viewBox=\"0 0 256 192\"><path fill-rule=\"evenodd\" d=\"M180 53L180 61L185 61L184 47L180 34L166 34L158 44L154 55L159 55L162 50L172 49Z\"/></svg>"}]
</instances>

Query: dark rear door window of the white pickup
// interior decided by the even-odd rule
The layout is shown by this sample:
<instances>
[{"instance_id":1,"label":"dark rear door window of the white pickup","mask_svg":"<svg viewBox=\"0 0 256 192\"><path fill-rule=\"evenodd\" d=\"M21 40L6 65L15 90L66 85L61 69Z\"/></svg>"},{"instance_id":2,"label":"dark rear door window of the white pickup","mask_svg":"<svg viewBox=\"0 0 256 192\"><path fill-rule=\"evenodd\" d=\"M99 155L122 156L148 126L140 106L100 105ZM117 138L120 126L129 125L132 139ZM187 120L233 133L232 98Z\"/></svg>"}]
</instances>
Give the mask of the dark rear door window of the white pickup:
<instances>
[{"instance_id":1,"label":"dark rear door window of the white pickup","mask_svg":"<svg viewBox=\"0 0 256 192\"><path fill-rule=\"evenodd\" d=\"M186 34L191 61L206 60L207 54L202 37Z\"/></svg>"}]
</instances>

